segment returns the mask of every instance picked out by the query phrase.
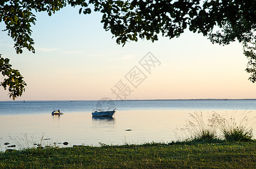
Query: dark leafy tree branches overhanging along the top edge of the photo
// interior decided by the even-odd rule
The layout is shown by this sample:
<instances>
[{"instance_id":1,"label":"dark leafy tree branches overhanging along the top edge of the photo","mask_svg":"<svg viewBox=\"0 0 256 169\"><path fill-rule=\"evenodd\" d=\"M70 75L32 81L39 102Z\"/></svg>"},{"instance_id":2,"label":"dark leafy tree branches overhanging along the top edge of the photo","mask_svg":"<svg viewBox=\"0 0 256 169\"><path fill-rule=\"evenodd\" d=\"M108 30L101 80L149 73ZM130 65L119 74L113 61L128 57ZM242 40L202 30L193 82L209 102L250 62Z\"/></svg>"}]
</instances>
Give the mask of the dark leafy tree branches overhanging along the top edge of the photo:
<instances>
[{"instance_id":1,"label":"dark leafy tree branches overhanging along the top edge of the photo","mask_svg":"<svg viewBox=\"0 0 256 169\"><path fill-rule=\"evenodd\" d=\"M249 63L246 71L256 81L255 57L255 0L2 0L0 22L14 39L17 54L23 48L34 52L31 25L35 24L33 12L46 11L49 16L61 8L80 6L79 13L101 12L103 28L110 30L118 44L138 38L158 40L158 35L179 37L185 29L208 36L212 43L228 45L238 41L244 45ZM214 32L215 26L220 31ZM2 69L0 68L0 71Z\"/></svg>"}]
</instances>

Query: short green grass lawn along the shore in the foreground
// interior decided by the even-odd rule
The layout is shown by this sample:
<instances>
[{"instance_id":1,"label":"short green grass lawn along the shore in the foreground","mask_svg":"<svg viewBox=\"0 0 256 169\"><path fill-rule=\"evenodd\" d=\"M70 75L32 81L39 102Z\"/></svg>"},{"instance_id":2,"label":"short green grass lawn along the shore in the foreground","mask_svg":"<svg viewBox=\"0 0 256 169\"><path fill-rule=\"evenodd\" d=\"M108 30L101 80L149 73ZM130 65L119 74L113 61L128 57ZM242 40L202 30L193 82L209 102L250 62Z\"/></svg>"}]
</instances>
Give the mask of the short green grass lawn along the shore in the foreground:
<instances>
[{"instance_id":1,"label":"short green grass lawn along the shore in the foreground","mask_svg":"<svg viewBox=\"0 0 256 169\"><path fill-rule=\"evenodd\" d=\"M0 168L255 167L255 141L32 148L0 153Z\"/></svg>"}]
</instances>

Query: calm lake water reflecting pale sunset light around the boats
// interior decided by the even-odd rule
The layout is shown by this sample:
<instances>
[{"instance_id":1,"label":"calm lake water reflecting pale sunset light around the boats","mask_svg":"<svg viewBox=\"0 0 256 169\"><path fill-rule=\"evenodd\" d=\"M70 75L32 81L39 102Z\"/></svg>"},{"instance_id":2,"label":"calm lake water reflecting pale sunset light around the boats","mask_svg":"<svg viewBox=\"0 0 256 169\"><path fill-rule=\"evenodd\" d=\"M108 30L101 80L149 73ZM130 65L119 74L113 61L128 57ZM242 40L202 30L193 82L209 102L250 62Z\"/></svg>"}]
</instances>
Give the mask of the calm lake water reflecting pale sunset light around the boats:
<instances>
[{"instance_id":1,"label":"calm lake water reflecting pale sunset light around the boats","mask_svg":"<svg viewBox=\"0 0 256 169\"><path fill-rule=\"evenodd\" d=\"M112 103L111 103L112 104ZM3 143L16 149L41 143L67 141L72 145L140 144L182 139L182 128L189 114L202 112L256 116L256 100L127 100L114 101L112 118L93 118L97 101L0 101L0 150ZM102 107L109 106L102 102ZM51 115L60 109L63 115ZM63 144L58 144L63 146Z\"/></svg>"}]
</instances>

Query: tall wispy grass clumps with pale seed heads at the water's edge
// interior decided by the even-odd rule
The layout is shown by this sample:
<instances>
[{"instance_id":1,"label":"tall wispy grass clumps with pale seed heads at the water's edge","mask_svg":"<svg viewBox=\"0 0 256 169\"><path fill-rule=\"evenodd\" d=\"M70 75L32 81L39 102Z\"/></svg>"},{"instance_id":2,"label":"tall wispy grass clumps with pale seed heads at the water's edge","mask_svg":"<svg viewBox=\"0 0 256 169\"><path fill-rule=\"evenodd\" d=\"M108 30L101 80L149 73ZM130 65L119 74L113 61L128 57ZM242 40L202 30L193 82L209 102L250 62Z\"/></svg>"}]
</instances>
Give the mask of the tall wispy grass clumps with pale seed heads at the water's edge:
<instances>
[{"instance_id":1,"label":"tall wispy grass clumps with pale seed heads at the water's edge","mask_svg":"<svg viewBox=\"0 0 256 169\"><path fill-rule=\"evenodd\" d=\"M202 112L194 112L190 114L191 119L186 121L181 131L186 135L186 140L252 141L256 117L249 118L250 113L245 111L237 122L234 117L236 112L232 112L231 117L213 112L206 119ZM217 135L218 132L220 135Z\"/></svg>"}]
</instances>

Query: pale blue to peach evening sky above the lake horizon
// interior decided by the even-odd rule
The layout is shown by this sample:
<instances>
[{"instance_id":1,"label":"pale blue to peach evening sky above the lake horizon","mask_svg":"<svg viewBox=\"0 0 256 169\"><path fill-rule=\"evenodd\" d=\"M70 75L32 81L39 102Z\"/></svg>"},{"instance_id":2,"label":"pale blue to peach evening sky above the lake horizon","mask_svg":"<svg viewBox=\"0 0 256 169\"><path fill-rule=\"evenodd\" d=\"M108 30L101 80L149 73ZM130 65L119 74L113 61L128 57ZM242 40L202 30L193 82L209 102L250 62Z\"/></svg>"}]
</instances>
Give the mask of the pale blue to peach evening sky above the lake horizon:
<instances>
[{"instance_id":1,"label":"pale blue to peach evening sky above the lake horizon","mask_svg":"<svg viewBox=\"0 0 256 169\"><path fill-rule=\"evenodd\" d=\"M79 7L66 7L36 18L36 54L24 49L17 55L11 37L0 32L0 54L27 83L16 100L256 98L238 42L212 45L187 30L179 38L159 35L154 43L140 39L122 47L103 29L99 13L79 15ZM2 87L0 100L11 100Z\"/></svg>"}]
</instances>

